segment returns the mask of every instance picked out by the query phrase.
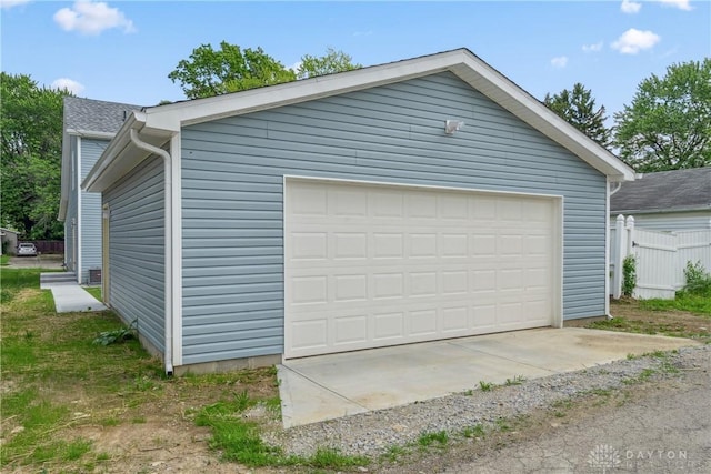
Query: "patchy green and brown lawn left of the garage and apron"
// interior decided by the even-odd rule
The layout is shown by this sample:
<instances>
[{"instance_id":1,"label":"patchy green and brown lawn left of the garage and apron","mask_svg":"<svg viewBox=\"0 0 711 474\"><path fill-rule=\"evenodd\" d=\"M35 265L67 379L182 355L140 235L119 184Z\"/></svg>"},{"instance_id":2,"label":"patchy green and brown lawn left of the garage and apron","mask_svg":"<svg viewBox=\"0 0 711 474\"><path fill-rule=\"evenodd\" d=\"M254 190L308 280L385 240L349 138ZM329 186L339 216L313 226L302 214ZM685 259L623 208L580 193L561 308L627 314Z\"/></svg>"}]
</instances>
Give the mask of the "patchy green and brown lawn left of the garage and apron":
<instances>
[{"instance_id":1,"label":"patchy green and brown lawn left of the garage and apron","mask_svg":"<svg viewBox=\"0 0 711 474\"><path fill-rule=\"evenodd\" d=\"M152 472L170 462L183 472L207 463L227 473L241 471L236 463L306 472L368 464L323 446L292 456L262 442L263 431L282 430L274 367L167 377L134 337L93 343L126 330L112 312L54 313L40 272L0 273L3 468Z\"/></svg>"}]
</instances>

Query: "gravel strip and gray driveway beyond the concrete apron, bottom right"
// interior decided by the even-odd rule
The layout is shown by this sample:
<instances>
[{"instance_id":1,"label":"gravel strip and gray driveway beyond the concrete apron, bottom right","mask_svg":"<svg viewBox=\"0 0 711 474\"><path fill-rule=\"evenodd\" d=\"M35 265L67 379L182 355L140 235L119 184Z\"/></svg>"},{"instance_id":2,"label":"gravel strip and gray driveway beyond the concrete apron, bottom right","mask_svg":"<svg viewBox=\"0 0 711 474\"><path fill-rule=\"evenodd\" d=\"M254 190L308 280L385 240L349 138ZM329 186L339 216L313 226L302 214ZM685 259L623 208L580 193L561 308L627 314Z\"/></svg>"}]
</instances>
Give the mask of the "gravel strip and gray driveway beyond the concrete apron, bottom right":
<instances>
[{"instance_id":1,"label":"gravel strip and gray driveway beyond the concrete apron, bottom right","mask_svg":"<svg viewBox=\"0 0 711 474\"><path fill-rule=\"evenodd\" d=\"M371 467L383 473L711 472L711 345L661 355L299 426L271 441L293 453L327 445L371 456L402 446ZM477 425L487 434L462 435ZM443 450L420 448L424 433L442 431Z\"/></svg>"}]
</instances>

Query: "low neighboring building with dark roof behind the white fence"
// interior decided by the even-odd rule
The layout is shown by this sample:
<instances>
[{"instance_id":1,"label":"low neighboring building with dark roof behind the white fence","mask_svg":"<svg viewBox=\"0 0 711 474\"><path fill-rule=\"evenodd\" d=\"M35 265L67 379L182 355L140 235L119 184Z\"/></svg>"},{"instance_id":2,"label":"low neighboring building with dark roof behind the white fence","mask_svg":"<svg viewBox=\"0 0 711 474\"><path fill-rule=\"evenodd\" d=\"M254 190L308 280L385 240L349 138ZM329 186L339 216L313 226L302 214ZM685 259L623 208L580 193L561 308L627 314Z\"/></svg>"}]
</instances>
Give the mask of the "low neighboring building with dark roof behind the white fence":
<instances>
[{"instance_id":1,"label":"low neighboring building with dark roof behind the white fence","mask_svg":"<svg viewBox=\"0 0 711 474\"><path fill-rule=\"evenodd\" d=\"M610 198L610 221L632 215L655 231L711 229L711 167L660 171L623 183Z\"/></svg>"}]
</instances>

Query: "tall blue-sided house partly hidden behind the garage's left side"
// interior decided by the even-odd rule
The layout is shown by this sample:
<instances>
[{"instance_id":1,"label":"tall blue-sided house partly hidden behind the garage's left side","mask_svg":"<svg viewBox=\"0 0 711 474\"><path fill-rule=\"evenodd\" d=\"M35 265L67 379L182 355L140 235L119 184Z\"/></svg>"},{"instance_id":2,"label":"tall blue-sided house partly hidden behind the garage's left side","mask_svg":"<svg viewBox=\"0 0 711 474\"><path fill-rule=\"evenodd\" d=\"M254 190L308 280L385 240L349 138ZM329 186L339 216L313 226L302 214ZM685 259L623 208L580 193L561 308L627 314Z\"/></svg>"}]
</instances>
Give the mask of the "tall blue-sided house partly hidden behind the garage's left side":
<instances>
[{"instance_id":1,"label":"tall blue-sided house partly hidden behind the garage's left side","mask_svg":"<svg viewBox=\"0 0 711 474\"><path fill-rule=\"evenodd\" d=\"M77 281L90 283L89 270L101 270L101 195L81 190L123 120L138 105L64 98L62 183L59 220L64 222L64 264ZM94 283L94 282L92 282Z\"/></svg>"}]
</instances>

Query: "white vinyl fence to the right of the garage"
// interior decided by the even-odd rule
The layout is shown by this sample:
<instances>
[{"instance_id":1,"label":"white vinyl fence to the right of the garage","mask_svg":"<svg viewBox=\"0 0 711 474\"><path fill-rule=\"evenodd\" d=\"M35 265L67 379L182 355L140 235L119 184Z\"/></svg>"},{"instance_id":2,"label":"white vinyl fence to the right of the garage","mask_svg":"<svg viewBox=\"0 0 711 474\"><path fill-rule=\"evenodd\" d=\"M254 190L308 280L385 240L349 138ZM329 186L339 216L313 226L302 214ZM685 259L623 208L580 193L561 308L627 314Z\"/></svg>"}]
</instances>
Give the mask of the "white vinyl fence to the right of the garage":
<instances>
[{"instance_id":1,"label":"white vinyl fence to the right of the garage","mask_svg":"<svg viewBox=\"0 0 711 474\"><path fill-rule=\"evenodd\" d=\"M637 299L673 300L685 284L687 262L701 262L711 271L711 229L658 232L634 228L634 218L618 215L610 229L610 293L622 294L622 262L627 255L637 260Z\"/></svg>"}]
</instances>

